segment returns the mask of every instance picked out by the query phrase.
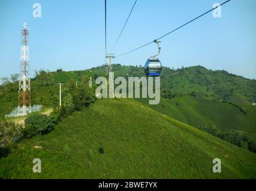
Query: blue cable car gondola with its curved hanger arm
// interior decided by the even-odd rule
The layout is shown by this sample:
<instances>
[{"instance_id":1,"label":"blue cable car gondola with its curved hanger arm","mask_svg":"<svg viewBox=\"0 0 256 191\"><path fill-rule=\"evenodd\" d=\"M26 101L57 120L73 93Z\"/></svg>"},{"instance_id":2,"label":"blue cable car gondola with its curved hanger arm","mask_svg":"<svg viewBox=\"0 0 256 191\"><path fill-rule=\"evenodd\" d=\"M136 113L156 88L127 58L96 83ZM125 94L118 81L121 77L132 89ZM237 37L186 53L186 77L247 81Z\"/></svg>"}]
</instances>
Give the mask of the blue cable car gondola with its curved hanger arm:
<instances>
[{"instance_id":1,"label":"blue cable car gondola with its curved hanger arm","mask_svg":"<svg viewBox=\"0 0 256 191\"><path fill-rule=\"evenodd\" d=\"M160 54L161 47L159 47L159 43L161 41L155 40L155 43L158 45L158 54L156 54L153 57L150 57L147 59L145 66L144 66L144 72L146 76L159 76L162 72L162 64L161 61L158 59L158 55Z\"/></svg>"}]
</instances>

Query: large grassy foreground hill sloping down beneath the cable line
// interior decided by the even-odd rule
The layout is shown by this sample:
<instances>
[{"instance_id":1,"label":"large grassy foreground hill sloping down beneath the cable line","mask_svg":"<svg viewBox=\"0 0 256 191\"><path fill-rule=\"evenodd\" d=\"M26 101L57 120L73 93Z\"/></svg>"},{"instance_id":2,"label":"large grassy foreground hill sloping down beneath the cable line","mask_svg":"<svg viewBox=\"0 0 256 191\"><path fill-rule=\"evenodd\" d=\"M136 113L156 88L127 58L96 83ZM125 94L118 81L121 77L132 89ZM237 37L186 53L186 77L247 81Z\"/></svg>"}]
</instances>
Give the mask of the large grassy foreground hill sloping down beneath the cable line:
<instances>
[{"instance_id":1,"label":"large grassy foreground hill sloping down beneath the cable line","mask_svg":"<svg viewBox=\"0 0 256 191\"><path fill-rule=\"evenodd\" d=\"M221 173L212 172L214 158ZM100 99L49 134L22 140L0 159L0 178L256 178L255 162L255 153L137 101Z\"/></svg>"}]
</instances>

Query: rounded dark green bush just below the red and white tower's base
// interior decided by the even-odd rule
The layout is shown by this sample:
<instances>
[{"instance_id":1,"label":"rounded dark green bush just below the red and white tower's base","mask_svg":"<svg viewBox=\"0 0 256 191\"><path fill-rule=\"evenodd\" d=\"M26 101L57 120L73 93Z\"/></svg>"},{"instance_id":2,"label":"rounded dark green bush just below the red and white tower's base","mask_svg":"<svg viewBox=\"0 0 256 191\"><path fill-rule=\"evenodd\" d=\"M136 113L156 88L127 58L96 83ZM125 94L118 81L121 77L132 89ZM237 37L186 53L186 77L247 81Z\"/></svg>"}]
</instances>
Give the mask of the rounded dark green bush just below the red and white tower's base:
<instances>
[{"instance_id":1,"label":"rounded dark green bush just below the red and white tower's base","mask_svg":"<svg viewBox=\"0 0 256 191\"><path fill-rule=\"evenodd\" d=\"M25 128L23 134L31 138L36 134L46 134L55 127L56 118L47 115L32 115L25 119Z\"/></svg>"}]
</instances>

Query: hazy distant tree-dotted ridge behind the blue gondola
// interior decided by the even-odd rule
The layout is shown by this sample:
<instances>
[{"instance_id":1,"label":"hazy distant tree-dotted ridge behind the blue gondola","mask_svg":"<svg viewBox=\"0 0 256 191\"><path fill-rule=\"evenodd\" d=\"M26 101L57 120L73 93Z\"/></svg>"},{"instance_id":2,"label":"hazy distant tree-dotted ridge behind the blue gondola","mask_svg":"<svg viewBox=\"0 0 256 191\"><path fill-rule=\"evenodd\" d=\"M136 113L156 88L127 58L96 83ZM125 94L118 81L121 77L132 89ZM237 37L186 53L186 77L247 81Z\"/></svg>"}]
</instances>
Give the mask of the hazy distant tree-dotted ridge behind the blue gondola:
<instances>
[{"instance_id":1,"label":"hazy distant tree-dotted ridge behind the blue gondola","mask_svg":"<svg viewBox=\"0 0 256 191\"><path fill-rule=\"evenodd\" d=\"M92 72L105 74L105 67L95 67ZM143 67L114 64L115 76L144 76ZM76 72L74 72L76 73ZM225 70L208 70L203 66L170 69L163 67L161 96L172 98L191 94L210 100L222 100L234 104L256 102L256 81L236 76Z\"/></svg>"}]
</instances>

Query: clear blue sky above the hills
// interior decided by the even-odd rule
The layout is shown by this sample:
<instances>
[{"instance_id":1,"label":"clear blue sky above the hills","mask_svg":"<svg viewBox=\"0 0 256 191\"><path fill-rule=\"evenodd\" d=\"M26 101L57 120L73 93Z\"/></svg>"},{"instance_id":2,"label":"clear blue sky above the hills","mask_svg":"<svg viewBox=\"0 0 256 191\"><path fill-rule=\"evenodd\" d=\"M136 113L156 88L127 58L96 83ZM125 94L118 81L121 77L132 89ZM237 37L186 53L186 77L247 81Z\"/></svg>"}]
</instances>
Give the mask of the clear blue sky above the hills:
<instances>
[{"instance_id":1,"label":"clear blue sky above the hills","mask_svg":"<svg viewBox=\"0 0 256 191\"><path fill-rule=\"evenodd\" d=\"M138 0L116 54L146 44L210 10L225 0ZM42 17L32 16L39 2ZM134 0L107 1L107 48L110 51ZM231 0L222 17L212 13L162 39L159 58L164 66L200 64L256 78L256 1ZM34 70L84 70L105 60L104 0L0 0L0 77L19 73L22 24L29 28L29 61ZM115 58L115 63L141 64L156 53L156 45Z\"/></svg>"}]
</instances>

